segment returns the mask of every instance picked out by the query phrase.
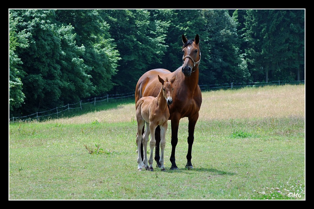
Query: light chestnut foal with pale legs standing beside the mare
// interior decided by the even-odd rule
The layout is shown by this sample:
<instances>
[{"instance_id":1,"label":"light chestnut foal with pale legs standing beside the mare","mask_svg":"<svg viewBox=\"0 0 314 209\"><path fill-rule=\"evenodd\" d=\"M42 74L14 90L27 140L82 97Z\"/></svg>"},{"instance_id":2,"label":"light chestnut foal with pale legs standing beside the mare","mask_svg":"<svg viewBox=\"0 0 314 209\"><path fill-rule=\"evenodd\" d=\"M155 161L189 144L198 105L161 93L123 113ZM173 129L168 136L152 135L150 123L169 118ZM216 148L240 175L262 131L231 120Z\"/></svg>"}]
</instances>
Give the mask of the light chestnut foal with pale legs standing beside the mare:
<instances>
[{"instance_id":1,"label":"light chestnut foal with pale legs standing beside the mare","mask_svg":"<svg viewBox=\"0 0 314 209\"><path fill-rule=\"evenodd\" d=\"M142 168L153 169L153 152L156 145L155 140L155 129L157 126L160 126L160 160L161 170L165 171L164 166L164 151L166 146L166 131L168 128L168 118L170 116L168 105L172 104L172 83L176 80L176 76L173 77L170 81L166 79L164 81L158 75L158 80L161 83L161 89L157 97L145 96L138 100L135 105L136 108L136 121L138 124L138 133L136 135L136 144L138 146L138 170L141 171ZM142 136L142 130L146 123L146 131ZM149 166L147 163L147 142L149 134L150 137L150 157L149 157ZM142 160L140 147L143 139L144 147L144 159Z\"/></svg>"}]
</instances>

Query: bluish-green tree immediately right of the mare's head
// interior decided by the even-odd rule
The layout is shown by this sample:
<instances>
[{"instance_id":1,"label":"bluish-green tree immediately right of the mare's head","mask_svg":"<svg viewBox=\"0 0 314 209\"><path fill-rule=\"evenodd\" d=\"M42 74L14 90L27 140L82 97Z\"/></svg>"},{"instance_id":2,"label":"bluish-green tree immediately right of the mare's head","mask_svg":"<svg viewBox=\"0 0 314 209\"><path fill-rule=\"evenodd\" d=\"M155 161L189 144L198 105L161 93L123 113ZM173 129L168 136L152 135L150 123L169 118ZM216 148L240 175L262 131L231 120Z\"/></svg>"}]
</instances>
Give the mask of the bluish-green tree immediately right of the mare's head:
<instances>
[{"instance_id":1,"label":"bluish-green tree immediately right of the mare's head","mask_svg":"<svg viewBox=\"0 0 314 209\"><path fill-rule=\"evenodd\" d=\"M202 10L204 19L204 43L206 50L203 63L206 71L202 72L203 84L221 84L225 82L247 81L250 74L240 50L237 34L237 22L228 14L228 10ZM204 50L203 50L204 52Z\"/></svg>"}]
</instances>

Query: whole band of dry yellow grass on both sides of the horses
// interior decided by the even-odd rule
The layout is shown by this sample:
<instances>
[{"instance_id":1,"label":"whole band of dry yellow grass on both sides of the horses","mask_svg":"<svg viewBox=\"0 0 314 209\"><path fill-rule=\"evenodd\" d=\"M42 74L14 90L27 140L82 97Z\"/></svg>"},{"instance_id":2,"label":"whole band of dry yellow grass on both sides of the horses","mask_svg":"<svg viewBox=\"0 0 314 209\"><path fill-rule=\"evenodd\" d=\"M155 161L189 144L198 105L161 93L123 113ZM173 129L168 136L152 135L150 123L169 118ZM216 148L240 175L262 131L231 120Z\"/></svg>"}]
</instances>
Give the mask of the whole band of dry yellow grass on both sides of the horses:
<instances>
[{"instance_id":1,"label":"whole band of dry yellow grass on both sides of the horses","mask_svg":"<svg viewBox=\"0 0 314 209\"><path fill-rule=\"evenodd\" d=\"M305 85L207 91L202 92L202 97L199 120L203 121L305 115ZM55 119L49 123L88 124L96 120L100 123L134 121L135 103L72 118Z\"/></svg>"}]
</instances>

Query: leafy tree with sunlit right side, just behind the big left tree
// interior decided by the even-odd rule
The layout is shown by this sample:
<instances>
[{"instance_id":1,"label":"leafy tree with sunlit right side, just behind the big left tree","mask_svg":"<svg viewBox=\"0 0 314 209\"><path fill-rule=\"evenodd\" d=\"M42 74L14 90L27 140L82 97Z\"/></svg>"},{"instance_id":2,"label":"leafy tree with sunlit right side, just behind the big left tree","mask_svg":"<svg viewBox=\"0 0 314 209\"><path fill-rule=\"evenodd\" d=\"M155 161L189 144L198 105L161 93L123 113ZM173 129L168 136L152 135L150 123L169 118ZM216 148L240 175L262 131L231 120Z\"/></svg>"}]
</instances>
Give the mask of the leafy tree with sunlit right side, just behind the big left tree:
<instances>
[{"instance_id":1,"label":"leafy tree with sunlit right side, just behind the big left tree","mask_svg":"<svg viewBox=\"0 0 314 209\"><path fill-rule=\"evenodd\" d=\"M106 95L113 88L114 82L111 78L116 74L117 63L121 59L109 34L109 25L99 14L101 11L90 9L56 11L58 21L73 26L73 32L76 34L73 41L78 46L84 46L84 53L80 58L84 60L86 72L90 76L92 84L90 96Z\"/></svg>"}]
</instances>

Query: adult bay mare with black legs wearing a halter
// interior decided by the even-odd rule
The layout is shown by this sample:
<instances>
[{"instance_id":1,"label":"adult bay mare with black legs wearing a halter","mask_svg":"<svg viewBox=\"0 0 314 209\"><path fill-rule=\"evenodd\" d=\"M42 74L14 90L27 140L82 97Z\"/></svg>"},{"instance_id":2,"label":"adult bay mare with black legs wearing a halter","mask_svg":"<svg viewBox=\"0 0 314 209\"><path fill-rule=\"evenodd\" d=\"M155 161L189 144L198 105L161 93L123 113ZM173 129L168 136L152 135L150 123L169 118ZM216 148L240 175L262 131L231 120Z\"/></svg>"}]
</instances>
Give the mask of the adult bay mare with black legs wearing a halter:
<instances>
[{"instance_id":1,"label":"adult bay mare with black legs wearing a halter","mask_svg":"<svg viewBox=\"0 0 314 209\"><path fill-rule=\"evenodd\" d=\"M202 94L198 86L198 66L201 59L201 52L199 50L199 36L196 35L193 40L187 40L182 35L183 47L183 65L176 69L174 72L170 72L166 69L153 69L149 70L141 76L138 80L135 90L135 102L137 102L143 96L157 96L160 89L158 84L157 75L162 77L172 78L176 76L176 81L173 83L174 91L172 93L173 103L169 107L171 120L171 168L178 169L176 165L175 151L178 143L178 128L181 118L187 117L188 124L188 150L187 150L187 164L186 168L192 169L192 145L194 141L194 129L198 120L198 111L202 104ZM155 161L158 164L159 156L159 142L160 142L160 129L157 127L155 132L156 139L156 151ZM142 152L141 146L141 152ZM143 158L143 152L142 152Z\"/></svg>"}]
</instances>

